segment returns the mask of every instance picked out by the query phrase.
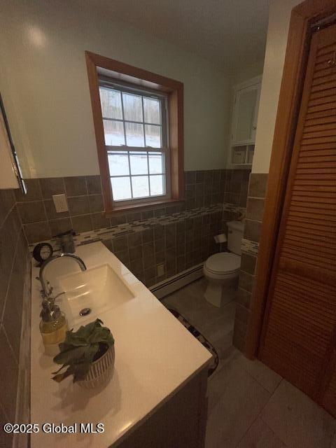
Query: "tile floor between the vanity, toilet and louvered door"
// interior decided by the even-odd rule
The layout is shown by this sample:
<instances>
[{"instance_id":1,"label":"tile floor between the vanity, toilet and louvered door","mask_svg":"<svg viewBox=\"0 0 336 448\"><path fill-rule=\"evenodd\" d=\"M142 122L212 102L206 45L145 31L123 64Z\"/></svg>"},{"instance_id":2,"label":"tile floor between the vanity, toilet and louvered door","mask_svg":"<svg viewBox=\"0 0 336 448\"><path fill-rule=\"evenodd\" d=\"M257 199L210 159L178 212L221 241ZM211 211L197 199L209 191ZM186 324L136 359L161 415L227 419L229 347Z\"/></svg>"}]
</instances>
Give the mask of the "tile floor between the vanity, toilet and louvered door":
<instances>
[{"instance_id":1,"label":"tile floor between the vanity, toilet and louvered door","mask_svg":"<svg viewBox=\"0 0 336 448\"><path fill-rule=\"evenodd\" d=\"M220 363L209 379L206 448L336 448L336 421L297 388L232 346L235 302L203 298L205 279L165 297L209 339ZM232 295L233 299L233 295Z\"/></svg>"}]
</instances>

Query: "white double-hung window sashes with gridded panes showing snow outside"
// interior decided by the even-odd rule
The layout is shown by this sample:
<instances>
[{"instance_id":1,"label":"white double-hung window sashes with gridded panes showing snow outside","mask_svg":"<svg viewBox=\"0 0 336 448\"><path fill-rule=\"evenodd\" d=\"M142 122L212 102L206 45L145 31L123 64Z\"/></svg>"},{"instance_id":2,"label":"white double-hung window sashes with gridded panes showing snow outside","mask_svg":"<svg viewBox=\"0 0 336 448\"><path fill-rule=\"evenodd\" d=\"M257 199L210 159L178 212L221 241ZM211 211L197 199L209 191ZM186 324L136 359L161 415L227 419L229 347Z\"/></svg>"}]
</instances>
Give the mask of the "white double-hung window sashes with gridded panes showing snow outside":
<instances>
[{"instance_id":1,"label":"white double-hung window sashes with gridded panes showing snow outside","mask_svg":"<svg viewBox=\"0 0 336 448\"><path fill-rule=\"evenodd\" d=\"M99 80L115 202L169 197L167 95Z\"/></svg>"}]
</instances>

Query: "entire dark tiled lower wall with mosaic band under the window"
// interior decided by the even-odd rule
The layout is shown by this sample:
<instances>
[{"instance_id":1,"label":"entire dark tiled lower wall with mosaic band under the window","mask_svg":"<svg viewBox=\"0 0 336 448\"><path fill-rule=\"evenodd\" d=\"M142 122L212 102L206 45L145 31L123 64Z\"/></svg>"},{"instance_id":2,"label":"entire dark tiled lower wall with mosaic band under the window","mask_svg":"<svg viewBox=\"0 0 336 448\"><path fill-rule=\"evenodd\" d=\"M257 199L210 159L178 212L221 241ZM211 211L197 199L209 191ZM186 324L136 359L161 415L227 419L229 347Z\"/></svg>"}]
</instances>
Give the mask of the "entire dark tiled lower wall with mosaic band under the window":
<instances>
[{"instance_id":1,"label":"entire dark tiled lower wall with mosaic band under the window","mask_svg":"<svg viewBox=\"0 0 336 448\"><path fill-rule=\"evenodd\" d=\"M186 172L184 202L112 218L102 213L99 176L28 179L28 195L17 195L18 211L29 243L71 228L77 234L93 232L94 237L98 231L104 244L151 286L219 250L213 237L244 213L248 176L243 169ZM52 195L60 193L66 195L69 211L56 214ZM223 203L231 207L223 210ZM90 234L84 238L92 241ZM165 274L158 277L160 264Z\"/></svg>"}]
</instances>

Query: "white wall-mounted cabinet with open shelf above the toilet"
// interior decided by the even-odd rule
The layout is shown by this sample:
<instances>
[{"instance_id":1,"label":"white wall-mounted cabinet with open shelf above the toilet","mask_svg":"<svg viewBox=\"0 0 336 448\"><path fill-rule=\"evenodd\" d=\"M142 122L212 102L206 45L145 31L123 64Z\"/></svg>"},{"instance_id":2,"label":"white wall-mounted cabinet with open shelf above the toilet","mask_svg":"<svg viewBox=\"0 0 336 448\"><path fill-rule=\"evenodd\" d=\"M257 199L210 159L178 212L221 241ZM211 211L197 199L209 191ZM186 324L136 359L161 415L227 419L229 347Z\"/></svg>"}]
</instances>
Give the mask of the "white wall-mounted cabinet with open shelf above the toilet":
<instances>
[{"instance_id":1,"label":"white wall-mounted cabinet with open shelf above the toilet","mask_svg":"<svg viewBox=\"0 0 336 448\"><path fill-rule=\"evenodd\" d=\"M228 165L252 165L260 86L261 76L257 76L234 87Z\"/></svg>"}]
</instances>

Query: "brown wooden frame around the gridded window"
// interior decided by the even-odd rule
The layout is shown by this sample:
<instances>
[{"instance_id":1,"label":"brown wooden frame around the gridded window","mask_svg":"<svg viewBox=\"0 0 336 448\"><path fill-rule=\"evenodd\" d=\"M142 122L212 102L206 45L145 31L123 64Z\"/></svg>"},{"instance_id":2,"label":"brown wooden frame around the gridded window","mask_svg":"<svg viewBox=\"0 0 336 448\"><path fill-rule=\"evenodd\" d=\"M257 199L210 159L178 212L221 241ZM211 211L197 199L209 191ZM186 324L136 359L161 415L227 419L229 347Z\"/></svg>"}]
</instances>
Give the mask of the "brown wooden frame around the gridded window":
<instances>
[{"instance_id":1,"label":"brown wooden frame around the gridded window","mask_svg":"<svg viewBox=\"0 0 336 448\"><path fill-rule=\"evenodd\" d=\"M184 199L183 175L183 83L166 78L151 71L139 69L123 62L85 51L87 77L89 81L90 97L94 132L97 143L99 170L102 179L105 214L131 211L132 209L147 209L159 204L171 204ZM148 200L139 203L118 204L113 202L109 163L107 158L102 108L99 97L99 73L108 75L116 83L127 83L140 89L164 92L167 94L169 120L169 163L170 163L170 199Z\"/></svg>"}]
</instances>

